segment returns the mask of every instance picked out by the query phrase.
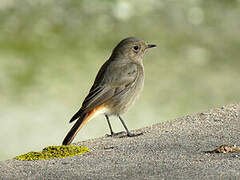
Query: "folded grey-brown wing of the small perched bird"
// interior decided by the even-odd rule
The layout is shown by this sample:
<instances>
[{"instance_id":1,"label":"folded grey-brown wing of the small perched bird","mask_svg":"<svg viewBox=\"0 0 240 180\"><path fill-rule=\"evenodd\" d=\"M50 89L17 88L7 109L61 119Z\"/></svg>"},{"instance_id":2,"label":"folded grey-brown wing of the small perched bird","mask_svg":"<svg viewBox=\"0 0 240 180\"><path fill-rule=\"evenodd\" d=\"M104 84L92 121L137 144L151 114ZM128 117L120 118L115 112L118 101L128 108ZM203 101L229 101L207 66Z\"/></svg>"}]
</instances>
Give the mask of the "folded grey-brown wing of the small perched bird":
<instances>
[{"instance_id":1,"label":"folded grey-brown wing of the small perched bird","mask_svg":"<svg viewBox=\"0 0 240 180\"><path fill-rule=\"evenodd\" d=\"M138 75L137 68L134 63L118 64L114 62L101 68L81 109L88 112L127 90Z\"/></svg>"}]
</instances>

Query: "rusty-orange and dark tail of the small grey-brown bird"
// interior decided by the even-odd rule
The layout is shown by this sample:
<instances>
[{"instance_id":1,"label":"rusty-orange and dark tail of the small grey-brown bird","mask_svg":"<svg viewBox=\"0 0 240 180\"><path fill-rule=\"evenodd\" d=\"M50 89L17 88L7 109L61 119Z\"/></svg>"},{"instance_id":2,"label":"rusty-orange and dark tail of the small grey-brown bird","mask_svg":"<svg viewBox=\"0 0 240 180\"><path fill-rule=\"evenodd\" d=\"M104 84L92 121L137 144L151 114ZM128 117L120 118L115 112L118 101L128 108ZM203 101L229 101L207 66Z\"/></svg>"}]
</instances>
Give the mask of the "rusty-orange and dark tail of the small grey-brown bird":
<instances>
[{"instance_id":1,"label":"rusty-orange and dark tail of the small grey-brown bird","mask_svg":"<svg viewBox=\"0 0 240 180\"><path fill-rule=\"evenodd\" d=\"M73 125L73 127L68 132L67 136L63 140L63 145L69 145L73 141L74 137L77 135L79 130L92 118L94 118L104 106L99 106L89 111L88 113L83 113L79 115L77 122Z\"/></svg>"}]
</instances>

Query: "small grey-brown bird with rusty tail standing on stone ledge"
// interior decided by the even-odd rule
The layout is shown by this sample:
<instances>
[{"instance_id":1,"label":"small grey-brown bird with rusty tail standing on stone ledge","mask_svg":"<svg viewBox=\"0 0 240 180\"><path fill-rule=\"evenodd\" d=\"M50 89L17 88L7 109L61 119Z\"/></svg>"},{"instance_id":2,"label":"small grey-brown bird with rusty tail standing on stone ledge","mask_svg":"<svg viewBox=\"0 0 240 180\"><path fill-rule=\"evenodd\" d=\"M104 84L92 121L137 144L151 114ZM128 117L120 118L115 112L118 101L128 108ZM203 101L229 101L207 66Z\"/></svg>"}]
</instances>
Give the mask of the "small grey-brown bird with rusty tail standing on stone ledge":
<instances>
[{"instance_id":1,"label":"small grey-brown bird with rusty tail standing on stone ledge","mask_svg":"<svg viewBox=\"0 0 240 180\"><path fill-rule=\"evenodd\" d=\"M138 98L144 85L143 56L147 49L156 47L136 37L120 41L113 49L110 58L101 66L92 87L81 108L70 119L75 124L62 144L69 145L79 130L94 117L103 114L107 120L110 135L115 136L109 117L117 116L128 137L139 136L131 133L121 115L128 111Z\"/></svg>"}]
</instances>

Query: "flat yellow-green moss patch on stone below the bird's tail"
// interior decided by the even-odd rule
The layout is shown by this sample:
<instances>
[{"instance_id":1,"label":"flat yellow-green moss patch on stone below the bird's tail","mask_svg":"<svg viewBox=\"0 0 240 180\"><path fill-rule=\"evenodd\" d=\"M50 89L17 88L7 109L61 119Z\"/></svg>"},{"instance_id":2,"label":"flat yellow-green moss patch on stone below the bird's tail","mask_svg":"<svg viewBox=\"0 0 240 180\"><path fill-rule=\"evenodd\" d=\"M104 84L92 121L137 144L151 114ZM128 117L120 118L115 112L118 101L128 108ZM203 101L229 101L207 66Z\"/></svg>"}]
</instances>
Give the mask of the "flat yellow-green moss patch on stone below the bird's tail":
<instances>
[{"instance_id":1,"label":"flat yellow-green moss patch on stone below the bird's tail","mask_svg":"<svg viewBox=\"0 0 240 180\"><path fill-rule=\"evenodd\" d=\"M48 146L45 147L42 152L29 152L14 158L22 161L31 161L40 159L65 158L80 155L85 152L89 152L88 147L74 145Z\"/></svg>"}]
</instances>

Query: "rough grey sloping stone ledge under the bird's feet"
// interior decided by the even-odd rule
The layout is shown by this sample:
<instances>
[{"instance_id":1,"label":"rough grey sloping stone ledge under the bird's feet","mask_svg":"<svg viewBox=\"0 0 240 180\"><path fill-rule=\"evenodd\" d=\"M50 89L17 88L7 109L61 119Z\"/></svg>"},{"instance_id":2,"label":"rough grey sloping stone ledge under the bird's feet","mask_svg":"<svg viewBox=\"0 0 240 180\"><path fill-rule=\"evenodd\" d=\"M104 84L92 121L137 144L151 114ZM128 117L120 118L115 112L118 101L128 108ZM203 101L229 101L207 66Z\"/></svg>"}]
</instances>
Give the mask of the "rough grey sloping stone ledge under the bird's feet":
<instances>
[{"instance_id":1,"label":"rough grey sloping stone ledge under the bird's feet","mask_svg":"<svg viewBox=\"0 0 240 180\"><path fill-rule=\"evenodd\" d=\"M2 179L240 179L240 104L145 127L133 138L79 142L91 152L64 159L0 162Z\"/></svg>"}]
</instances>

